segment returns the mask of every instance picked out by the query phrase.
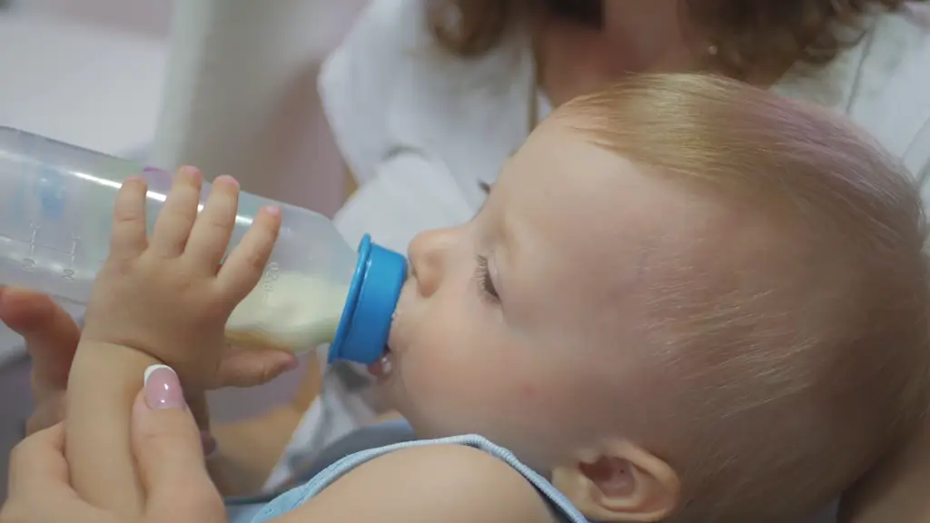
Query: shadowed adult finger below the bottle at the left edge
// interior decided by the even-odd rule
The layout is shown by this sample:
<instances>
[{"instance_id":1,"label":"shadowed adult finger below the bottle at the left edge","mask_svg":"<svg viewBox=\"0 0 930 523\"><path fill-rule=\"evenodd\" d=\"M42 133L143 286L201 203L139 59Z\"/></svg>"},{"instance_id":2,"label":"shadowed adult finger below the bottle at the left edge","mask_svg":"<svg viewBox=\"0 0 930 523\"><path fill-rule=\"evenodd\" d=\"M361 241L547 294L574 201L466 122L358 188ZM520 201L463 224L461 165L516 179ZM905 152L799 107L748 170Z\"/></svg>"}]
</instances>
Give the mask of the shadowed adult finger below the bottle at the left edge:
<instances>
[{"instance_id":1,"label":"shadowed adult finger below the bottle at the left edge","mask_svg":"<svg viewBox=\"0 0 930 523\"><path fill-rule=\"evenodd\" d=\"M33 393L42 401L64 390L81 329L71 315L45 294L0 288L0 320L26 342L33 356Z\"/></svg>"}]
</instances>

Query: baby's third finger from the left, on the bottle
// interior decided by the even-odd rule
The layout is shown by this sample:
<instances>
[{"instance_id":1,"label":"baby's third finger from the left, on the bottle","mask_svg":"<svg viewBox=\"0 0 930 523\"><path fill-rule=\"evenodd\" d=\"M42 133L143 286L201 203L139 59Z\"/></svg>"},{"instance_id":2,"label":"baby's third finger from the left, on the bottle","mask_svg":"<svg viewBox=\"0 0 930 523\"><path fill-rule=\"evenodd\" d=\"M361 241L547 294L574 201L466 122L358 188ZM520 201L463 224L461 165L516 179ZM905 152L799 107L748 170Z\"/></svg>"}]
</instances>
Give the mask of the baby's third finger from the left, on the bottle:
<instances>
[{"instance_id":1,"label":"baby's third finger from the left, on the bottle","mask_svg":"<svg viewBox=\"0 0 930 523\"><path fill-rule=\"evenodd\" d=\"M194 222L184 250L185 257L206 268L210 275L217 274L219 262L229 247L238 207L239 183L230 176L220 176L213 181L204 210Z\"/></svg>"}]
</instances>

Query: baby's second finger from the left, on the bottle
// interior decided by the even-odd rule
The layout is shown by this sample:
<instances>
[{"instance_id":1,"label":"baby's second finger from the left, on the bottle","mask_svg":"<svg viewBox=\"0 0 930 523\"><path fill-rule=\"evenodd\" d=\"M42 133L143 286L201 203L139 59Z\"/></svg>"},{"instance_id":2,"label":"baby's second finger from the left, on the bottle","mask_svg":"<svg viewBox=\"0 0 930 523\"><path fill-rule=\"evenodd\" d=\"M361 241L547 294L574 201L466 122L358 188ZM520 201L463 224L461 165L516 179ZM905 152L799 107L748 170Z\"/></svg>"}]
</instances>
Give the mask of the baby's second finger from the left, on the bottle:
<instances>
[{"instance_id":1,"label":"baby's second finger from the left, on the bottle","mask_svg":"<svg viewBox=\"0 0 930 523\"><path fill-rule=\"evenodd\" d=\"M152 235L152 248L159 256L180 256L187 246L193 221L197 219L203 179L196 168L179 168L171 183L165 206L158 213Z\"/></svg>"}]
</instances>

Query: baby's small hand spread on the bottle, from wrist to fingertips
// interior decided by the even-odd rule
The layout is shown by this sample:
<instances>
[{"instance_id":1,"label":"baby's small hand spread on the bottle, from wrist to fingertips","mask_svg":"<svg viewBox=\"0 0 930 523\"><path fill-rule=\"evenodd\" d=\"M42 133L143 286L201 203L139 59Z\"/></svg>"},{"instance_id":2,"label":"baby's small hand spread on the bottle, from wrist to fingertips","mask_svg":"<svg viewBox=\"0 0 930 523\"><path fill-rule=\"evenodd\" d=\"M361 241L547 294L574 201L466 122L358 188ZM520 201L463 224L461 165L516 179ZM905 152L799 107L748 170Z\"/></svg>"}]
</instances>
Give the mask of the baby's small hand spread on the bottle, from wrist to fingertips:
<instances>
[{"instance_id":1,"label":"baby's small hand spread on the bottle, from wrist to fingertips","mask_svg":"<svg viewBox=\"0 0 930 523\"><path fill-rule=\"evenodd\" d=\"M82 344L122 345L152 355L195 390L215 381L226 321L258 284L281 227L280 211L262 208L223 262L239 184L217 178L198 215L201 185L196 169L178 171L150 238L145 181L123 183L113 210L110 256L94 285L81 337Z\"/></svg>"}]
</instances>

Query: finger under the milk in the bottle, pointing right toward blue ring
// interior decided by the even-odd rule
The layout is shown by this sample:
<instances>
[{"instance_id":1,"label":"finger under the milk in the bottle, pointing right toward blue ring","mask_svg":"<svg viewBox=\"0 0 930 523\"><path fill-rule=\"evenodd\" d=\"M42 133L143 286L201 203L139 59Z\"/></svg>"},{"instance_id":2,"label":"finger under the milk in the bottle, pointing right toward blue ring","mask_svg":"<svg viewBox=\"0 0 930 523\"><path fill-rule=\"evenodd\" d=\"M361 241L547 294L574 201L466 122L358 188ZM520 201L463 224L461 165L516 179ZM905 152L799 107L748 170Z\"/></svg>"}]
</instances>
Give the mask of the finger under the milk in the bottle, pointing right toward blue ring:
<instances>
[{"instance_id":1,"label":"finger under the milk in the bottle, pointing right toward blue ring","mask_svg":"<svg viewBox=\"0 0 930 523\"><path fill-rule=\"evenodd\" d=\"M297 369L297 356L284 351L227 349L219 363L220 387L254 387Z\"/></svg>"}]
</instances>

